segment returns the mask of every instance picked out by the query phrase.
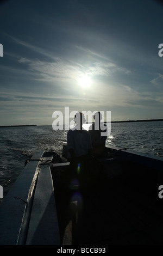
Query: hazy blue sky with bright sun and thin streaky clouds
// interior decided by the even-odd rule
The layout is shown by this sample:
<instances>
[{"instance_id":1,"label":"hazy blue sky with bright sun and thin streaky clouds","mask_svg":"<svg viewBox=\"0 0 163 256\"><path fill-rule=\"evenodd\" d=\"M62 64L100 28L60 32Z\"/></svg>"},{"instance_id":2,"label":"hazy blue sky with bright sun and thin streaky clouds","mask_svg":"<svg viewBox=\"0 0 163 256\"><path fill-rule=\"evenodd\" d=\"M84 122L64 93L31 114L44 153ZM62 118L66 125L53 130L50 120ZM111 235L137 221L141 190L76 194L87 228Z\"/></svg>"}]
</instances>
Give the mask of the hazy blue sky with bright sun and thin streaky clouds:
<instances>
[{"instance_id":1,"label":"hazy blue sky with bright sun and thin streaky clouds","mask_svg":"<svg viewBox=\"0 0 163 256\"><path fill-rule=\"evenodd\" d=\"M65 106L163 118L162 11L153 0L4 1L0 125L51 125Z\"/></svg>"}]
</instances>

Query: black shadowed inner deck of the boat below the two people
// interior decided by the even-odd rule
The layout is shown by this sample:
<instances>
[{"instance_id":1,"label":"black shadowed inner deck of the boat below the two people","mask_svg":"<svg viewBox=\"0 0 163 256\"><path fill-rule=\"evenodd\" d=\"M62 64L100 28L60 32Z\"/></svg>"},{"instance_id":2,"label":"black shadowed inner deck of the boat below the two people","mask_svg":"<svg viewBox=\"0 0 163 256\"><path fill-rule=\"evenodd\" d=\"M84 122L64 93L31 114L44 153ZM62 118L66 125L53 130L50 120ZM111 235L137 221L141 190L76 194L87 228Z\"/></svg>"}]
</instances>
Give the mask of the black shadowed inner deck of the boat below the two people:
<instances>
[{"instance_id":1,"label":"black shadowed inner deck of the boat below the two people","mask_svg":"<svg viewBox=\"0 0 163 256\"><path fill-rule=\"evenodd\" d=\"M68 188L59 182L64 172L52 171L62 245L163 244L163 208L158 191L150 187L150 179L145 184L142 173L139 176L137 171L132 178L122 176L122 169L117 167L117 163L112 164L110 169L117 170L118 175L100 175L86 191ZM148 173L150 176L149 168Z\"/></svg>"}]
</instances>

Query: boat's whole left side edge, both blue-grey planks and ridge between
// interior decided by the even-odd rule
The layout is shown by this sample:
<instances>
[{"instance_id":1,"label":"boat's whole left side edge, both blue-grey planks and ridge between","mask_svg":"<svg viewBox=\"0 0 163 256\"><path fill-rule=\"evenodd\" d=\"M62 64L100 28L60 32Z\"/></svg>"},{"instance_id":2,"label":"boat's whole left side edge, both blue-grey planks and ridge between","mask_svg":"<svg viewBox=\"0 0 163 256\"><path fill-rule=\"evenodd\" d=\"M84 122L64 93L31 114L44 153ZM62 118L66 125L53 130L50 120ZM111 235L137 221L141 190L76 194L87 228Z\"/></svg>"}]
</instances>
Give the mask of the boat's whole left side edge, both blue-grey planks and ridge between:
<instances>
[{"instance_id":1,"label":"boat's whole left side edge, both blue-grey planks and ridge between","mask_svg":"<svg viewBox=\"0 0 163 256\"><path fill-rule=\"evenodd\" d=\"M60 243L49 167L52 159L52 153L34 155L4 198L0 207L0 245Z\"/></svg>"}]
</instances>

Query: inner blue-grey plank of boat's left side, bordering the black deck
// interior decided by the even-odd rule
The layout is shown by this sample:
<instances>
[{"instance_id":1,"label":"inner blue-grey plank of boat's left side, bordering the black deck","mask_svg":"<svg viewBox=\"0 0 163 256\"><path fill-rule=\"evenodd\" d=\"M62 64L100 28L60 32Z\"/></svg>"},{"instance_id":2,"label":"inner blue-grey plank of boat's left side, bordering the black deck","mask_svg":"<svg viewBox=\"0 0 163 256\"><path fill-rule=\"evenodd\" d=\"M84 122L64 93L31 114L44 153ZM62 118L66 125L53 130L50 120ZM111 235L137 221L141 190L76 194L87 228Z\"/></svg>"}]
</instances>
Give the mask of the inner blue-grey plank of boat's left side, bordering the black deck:
<instances>
[{"instance_id":1,"label":"inner blue-grey plank of boat's left side, bordering the black deck","mask_svg":"<svg viewBox=\"0 0 163 256\"><path fill-rule=\"evenodd\" d=\"M56 153L52 151L45 152L42 156L26 245L60 245L57 208L49 166L53 157L58 159Z\"/></svg>"}]
</instances>

